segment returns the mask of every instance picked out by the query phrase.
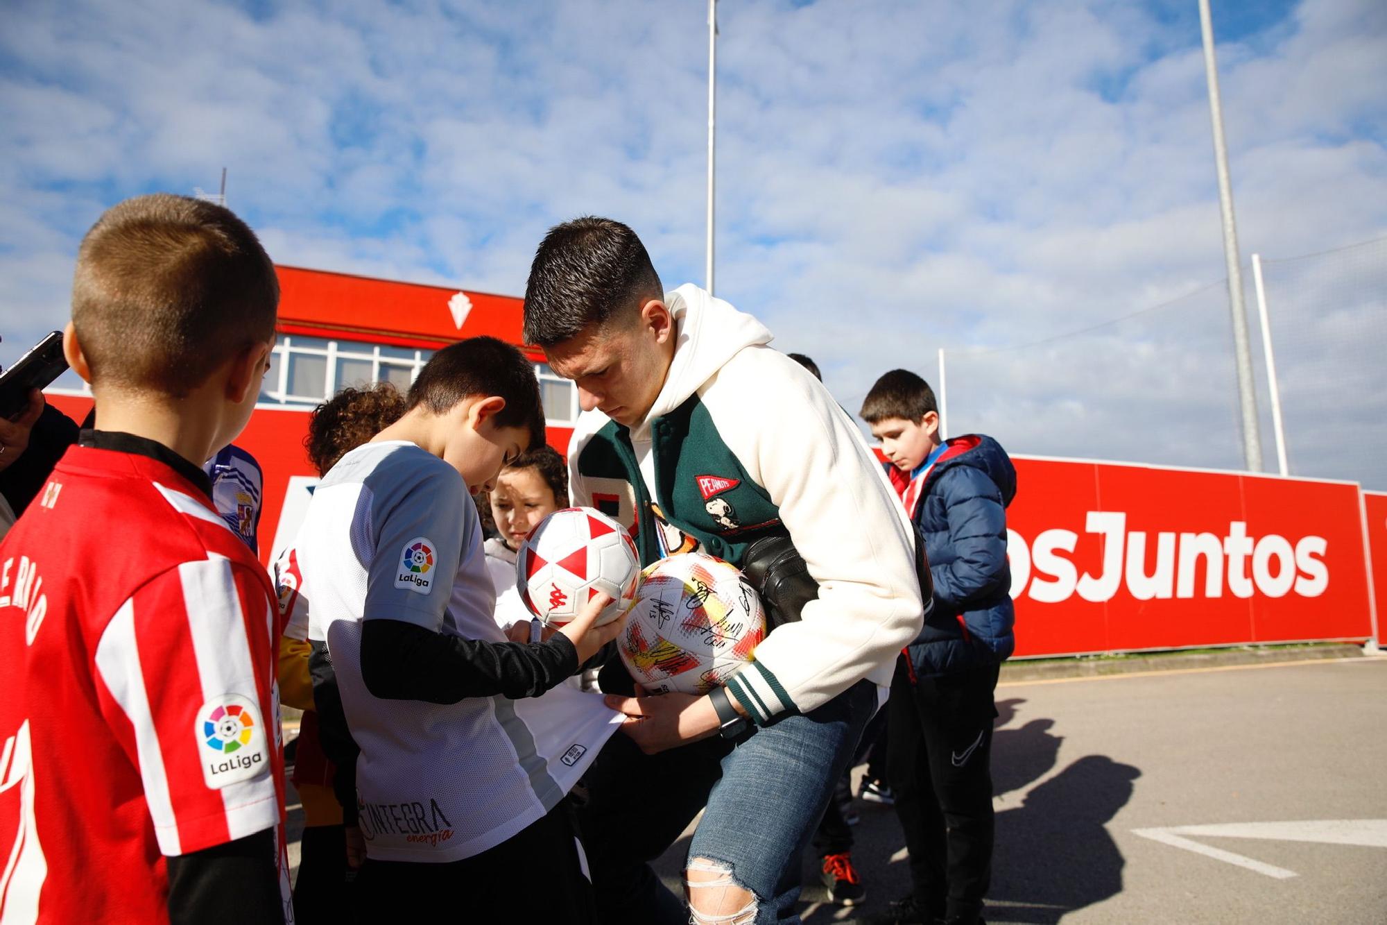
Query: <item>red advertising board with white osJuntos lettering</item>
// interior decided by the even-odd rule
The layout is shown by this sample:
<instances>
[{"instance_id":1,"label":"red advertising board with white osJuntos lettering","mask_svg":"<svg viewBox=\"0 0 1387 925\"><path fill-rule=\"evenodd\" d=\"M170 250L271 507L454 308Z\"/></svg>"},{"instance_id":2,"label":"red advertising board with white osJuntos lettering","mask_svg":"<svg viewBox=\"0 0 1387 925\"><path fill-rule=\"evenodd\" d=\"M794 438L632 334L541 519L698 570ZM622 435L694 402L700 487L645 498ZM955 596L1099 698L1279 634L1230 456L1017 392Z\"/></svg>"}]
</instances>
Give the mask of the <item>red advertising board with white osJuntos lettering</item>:
<instances>
[{"instance_id":1,"label":"red advertising board with white osJuntos lettering","mask_svg":"<svg viewBox=\"0 0 1387 925\"><path fill-rule=\"evenodd\" d=\"M1017 656L1372 635L1354 483L1015 464Z\"/></svg>"}]
</instances>

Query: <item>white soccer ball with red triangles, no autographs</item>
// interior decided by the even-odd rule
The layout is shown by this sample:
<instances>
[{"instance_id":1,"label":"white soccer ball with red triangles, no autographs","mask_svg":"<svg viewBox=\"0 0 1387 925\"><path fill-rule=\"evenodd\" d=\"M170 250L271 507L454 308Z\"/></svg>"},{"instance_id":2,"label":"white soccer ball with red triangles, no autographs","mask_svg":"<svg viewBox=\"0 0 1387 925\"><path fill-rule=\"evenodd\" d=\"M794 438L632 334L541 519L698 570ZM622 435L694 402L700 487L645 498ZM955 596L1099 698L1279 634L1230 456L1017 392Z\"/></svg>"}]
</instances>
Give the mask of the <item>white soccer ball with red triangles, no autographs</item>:
<instances>
[{"instance_id":1,"label":"white soccer ball with red triangles, no autographs","mask_svg":"<svg viewBox=\"0 0 1387 925\"><path fill-rule=\"evenodd\" d=\"M620 524L591 507L555 511L530 531L516 554L516 589L530 612L562 626L598 594L613 600L598 617L609 624L631 606L641 558Z\"/></svg>"}]
</instances>

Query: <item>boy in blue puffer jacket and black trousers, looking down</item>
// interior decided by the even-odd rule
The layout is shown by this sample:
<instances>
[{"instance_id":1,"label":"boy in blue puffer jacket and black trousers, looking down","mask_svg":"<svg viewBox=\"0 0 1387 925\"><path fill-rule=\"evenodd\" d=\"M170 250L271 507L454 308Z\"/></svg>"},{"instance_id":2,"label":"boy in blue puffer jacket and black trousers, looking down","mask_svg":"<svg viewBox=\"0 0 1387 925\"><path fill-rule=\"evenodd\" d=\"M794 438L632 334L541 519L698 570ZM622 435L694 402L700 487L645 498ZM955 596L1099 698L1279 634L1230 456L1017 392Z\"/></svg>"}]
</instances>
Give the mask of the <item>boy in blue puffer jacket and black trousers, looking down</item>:
<instances>
[{"instance_id":1,"label":"boy in blue puffer jacket and black trousers, looking down","mask_svg":"<svg viewBox=\"0 0 1387 925\"><path fill-rule=\"evenodd\" d=\"M1006 507L1017 471L988 436L942 440L929 385L881 376L861 417L925 544L933 612L896 662L888 778L910 851L913 893L896 922L981 922L992 876L993 690L1015 647Z\"/></svg>"}]
</instances>

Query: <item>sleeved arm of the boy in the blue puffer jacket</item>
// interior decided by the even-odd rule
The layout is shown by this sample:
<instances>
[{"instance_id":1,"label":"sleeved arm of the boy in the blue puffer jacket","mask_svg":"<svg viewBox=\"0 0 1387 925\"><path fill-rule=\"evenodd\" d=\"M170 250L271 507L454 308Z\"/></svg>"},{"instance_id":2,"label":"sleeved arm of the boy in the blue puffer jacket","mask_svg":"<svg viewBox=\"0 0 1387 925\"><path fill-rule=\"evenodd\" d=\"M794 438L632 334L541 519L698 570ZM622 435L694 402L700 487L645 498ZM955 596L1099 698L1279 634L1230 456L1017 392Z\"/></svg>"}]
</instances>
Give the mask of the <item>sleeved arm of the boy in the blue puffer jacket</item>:
<instances>
[{"instance_id":1,"label":"sleeved arm of the boy in the blue puffer jacket","mask_svg":"<svg viewBox=\"0 0 1387 925\"><path fill-rule=\"evenodd\" d=\"M929 568L935 604L945 612L963 612L970 601L994 592L1001 582L1007 567L1007 511L992 479L965 465L943 472L931 493L943 497L954 551L951 562Z\"/></svg>"}]
</instances>

